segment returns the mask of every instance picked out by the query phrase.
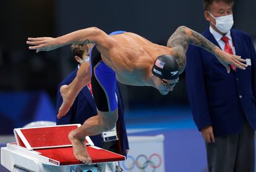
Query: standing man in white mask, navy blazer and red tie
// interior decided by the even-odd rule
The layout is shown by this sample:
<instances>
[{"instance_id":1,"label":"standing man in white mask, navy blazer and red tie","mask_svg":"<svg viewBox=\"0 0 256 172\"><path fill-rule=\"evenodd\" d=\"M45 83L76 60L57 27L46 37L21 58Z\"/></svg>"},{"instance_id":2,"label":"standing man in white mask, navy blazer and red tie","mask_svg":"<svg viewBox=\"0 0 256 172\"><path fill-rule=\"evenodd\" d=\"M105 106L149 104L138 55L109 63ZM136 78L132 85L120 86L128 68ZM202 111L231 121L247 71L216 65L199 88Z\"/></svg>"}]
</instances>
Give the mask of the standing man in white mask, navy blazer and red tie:
<instances>
[{"instance_id":1,"label":"standing man in white mask, navy blazer and red tie","mask_svg":"<svg viewBox=\"0 0 256 172\"><path fill-rule=\"evenodd\" d=\"M210 28L202 35L223 51L246 59L248 67L227 73L204 49L191 45L187 51L187 93L195 124L206 141L209 171L254 171L256 54L250 36L231 29L233 3L205 0Z\"/></svg>"}]
</instances>

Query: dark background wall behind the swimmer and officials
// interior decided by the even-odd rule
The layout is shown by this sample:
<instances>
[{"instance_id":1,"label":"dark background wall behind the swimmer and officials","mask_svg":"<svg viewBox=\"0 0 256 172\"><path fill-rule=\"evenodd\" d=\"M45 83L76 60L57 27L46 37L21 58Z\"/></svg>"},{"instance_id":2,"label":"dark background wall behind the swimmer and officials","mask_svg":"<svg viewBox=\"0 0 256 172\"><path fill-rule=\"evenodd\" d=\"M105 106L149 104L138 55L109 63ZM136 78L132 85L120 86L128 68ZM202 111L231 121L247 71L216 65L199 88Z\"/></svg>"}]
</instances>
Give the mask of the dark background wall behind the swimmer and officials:
<instances>
[{"instance_id":1,"label":"dark background wall behind the swimmer and officials","mask_svg":"<svg viewBox=\"0 0 256 172\"><path fill-rule=\"evenodd\" d=\"M98 27L110 33L125 30L150 41L166 44L181 25L198 32L208 27L202 0L180 1L1 1L0 89L46 89L55 100L56 87L76 64L68 46L52 52L29 51L28 36L60 36L70 31ZM15 4L15 5L14 5ZM234 28L256 39L256 1L235 1ZM127 108L188 105L185 76L168 96L153 88L121 86Z\"/></svg>"}]
</instances>

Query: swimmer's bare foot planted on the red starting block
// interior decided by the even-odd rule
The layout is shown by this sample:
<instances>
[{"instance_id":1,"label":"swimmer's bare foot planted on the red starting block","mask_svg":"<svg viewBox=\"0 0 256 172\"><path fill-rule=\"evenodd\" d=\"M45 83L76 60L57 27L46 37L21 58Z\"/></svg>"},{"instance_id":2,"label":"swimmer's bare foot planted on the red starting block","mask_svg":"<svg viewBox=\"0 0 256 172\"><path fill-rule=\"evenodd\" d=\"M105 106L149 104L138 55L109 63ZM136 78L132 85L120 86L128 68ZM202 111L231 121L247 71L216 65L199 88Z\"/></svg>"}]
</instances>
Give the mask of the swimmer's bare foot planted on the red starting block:
<instances>
[{"instance_id":1,"label":"swimmer's bare foot planted on the red starting block","mask_svg":"<svg viewBox=\"0 0 256 172\"><path fill-rule=\"evenodd\" d=\"M88 165L92 164L92 159L90 158L86 145L85 145L85 140L80 140L74 137L74 130L70 131L69 133L69 141L73 145L73 152L74 152L74 157Z\"/></svg>"}]
</instances>

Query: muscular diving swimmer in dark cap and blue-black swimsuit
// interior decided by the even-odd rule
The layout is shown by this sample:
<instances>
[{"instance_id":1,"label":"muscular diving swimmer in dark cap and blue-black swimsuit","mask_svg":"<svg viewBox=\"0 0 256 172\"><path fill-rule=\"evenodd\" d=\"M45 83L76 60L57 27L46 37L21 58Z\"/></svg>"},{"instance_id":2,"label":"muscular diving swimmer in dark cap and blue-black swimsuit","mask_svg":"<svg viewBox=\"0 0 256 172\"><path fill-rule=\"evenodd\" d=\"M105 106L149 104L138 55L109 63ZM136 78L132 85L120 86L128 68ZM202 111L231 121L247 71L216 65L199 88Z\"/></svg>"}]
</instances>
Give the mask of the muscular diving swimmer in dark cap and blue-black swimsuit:
<instances>
[{"instance_id":1,"label":"muscular diving swimmer in dark cap and blue-black swimsuit","mask_svg":"<svg viewBox=\"0 0 256 172\"><path fill-rule=\"evenodd\" d=\"M84 144L85 136L108 131L116 124L116 80L134 86L153 86L161 94L168 94L186 67L189 43L214 54L228 73L229 65L243 70L247 67L242 63L245 62L244 59L221 51L218 46L187 27L177 28L168 39L167 46L151 43L135 33L117 31L107 35L95 27L77 30L58 38L28 38L27 41L27 44L32 45L29 49L36 49L36 52L51 51L73 43L95 44L90 53L91 71L88 66L82 65L74 81L69 86L62 86L63 104L59 109L58 118L66 115L79 91L91 79L98 115L89 118L80 128L69 134L75 158L88 164L92 160Z\"/></svg>"}]
</instances>

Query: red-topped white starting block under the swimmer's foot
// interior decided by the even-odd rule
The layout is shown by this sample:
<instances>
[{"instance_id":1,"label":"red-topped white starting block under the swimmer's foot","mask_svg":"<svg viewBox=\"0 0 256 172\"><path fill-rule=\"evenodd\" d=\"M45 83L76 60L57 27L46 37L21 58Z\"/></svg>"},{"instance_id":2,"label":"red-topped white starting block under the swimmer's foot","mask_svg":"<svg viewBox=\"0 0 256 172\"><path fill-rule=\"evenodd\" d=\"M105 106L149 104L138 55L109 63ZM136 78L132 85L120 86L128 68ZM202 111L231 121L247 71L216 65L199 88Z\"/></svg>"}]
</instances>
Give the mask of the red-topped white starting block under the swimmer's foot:
<instances>
[{"instance_id":1,"label":"red-topped white starting block under the swimmer's foot","mask_svg":"<svg viewBox=\"0 0 256 172\"><path fill-rule=\"evenodd\" d=\"M79 126L16 128L17 143L1 148L1 164L9 171L116 171L116 162L126 157L96 147L88 136L85 144L92 165L85 165L74 157L68 135Z\"/></svg>"}]
</instances>

